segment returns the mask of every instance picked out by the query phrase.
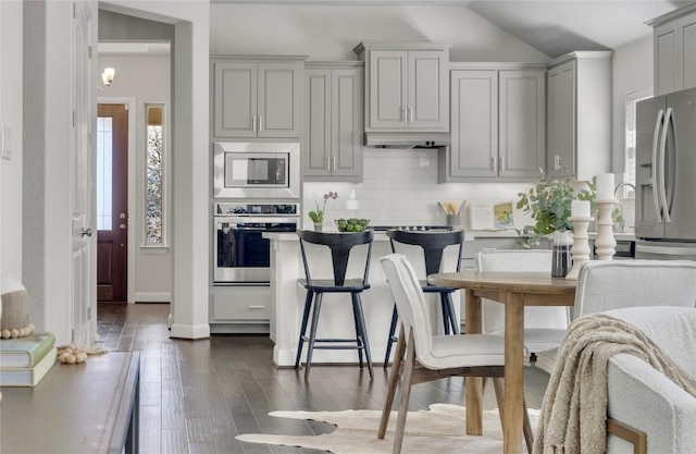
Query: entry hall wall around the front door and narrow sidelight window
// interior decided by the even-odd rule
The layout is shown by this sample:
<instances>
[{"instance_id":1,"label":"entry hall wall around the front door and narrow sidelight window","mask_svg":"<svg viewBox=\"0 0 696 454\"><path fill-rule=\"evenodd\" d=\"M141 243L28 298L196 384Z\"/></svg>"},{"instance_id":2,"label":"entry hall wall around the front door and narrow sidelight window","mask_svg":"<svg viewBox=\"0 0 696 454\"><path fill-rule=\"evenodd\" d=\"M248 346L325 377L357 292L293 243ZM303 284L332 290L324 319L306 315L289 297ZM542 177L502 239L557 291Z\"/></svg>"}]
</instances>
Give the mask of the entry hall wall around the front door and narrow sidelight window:
<instances>
[{"instance_id":1,"label":"entry hall wall around the front door and narrow sidelight window","mask_svg":"<svg viewBox=\"0 0 696 454\"><path fill-rule=\"evenodd\" d=\"M108 90L100 93L100 102L109 102L111 99L135 98L135 112L129 112L129 116L135 116L134 150L130 152L132 162L128 167L132 170L129 180L133 184L128 187L128 198L134 207L129 208L128 233L133 236L135 247L134 260L130 263L135 269L129 272L133 285L129 285L128 300L142 302L169 302L172 290L172 255L169 247L142 247L145 244L145 105L151 102L163 102L165 105L164 131L167 134L166 147L171 145L171 59L170 56L100 56L98 68L114 68L116 77ZM166 158L169 158L167 156ZM169 159L165 158L165 163ZM169 194L166 187L165 194ZM164 212L171 212L171 200ZM171 228L171 222L165 226ZM170 233L170 232L167 232ZM128 250L130 253L132 250Z\"/></svg>"}]
</instances>

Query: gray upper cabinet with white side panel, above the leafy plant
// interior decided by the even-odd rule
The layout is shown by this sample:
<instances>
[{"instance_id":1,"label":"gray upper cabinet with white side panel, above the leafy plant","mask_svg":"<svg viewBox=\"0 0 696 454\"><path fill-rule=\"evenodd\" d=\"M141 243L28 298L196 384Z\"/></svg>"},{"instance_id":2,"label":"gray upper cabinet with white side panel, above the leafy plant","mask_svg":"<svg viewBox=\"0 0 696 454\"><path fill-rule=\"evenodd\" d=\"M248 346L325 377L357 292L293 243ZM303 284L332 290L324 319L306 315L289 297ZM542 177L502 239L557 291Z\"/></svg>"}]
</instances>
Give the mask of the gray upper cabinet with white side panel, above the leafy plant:
<instances>
[{"instance_id":1,"label":"gray upper cabinet with white side panel, above the leafy plant","mask_svg":"<svg viewBox=\"0 0 696 454\"><path fill-rule=\"evenodd\" d=\"M611 51L583 51L548 63L549 176L592 180L611 165Z\"/></svg>"}]
</instances>

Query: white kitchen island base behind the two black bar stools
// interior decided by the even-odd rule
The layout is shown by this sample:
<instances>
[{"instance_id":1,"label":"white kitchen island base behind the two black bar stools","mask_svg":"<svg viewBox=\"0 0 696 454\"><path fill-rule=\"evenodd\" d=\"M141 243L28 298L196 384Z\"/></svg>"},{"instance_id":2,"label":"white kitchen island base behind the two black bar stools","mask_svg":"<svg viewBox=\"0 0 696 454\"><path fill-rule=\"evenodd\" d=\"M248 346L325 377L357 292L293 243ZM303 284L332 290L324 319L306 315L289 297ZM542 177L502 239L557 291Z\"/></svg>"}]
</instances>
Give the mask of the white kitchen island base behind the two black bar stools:
<instances>
[{"instance_id":1,"label":"white kitchen island base behind the two black bar stools","mask_svg":"<svg viewBox=\"0 0 696 454\"><path fill-rule=\"evenodd\" d=\"M302 309L307 291L298 280L304 278L304 268L300 254L299 237L294 233L264 233L263 237L271 242L271 340L273 363L276 367L295 365L297 341L299 338ZM327 249L322 246L306 244L312 278L327 279L332 277L331 259ZM415 272L425 279L423 251L420 247L398 245L397 251L403 254L413 263ZM443 255L443 272L455 271L458 247L448 247ZM348 263L348 275L361 275L364 267L366 248L356 248ZM370 262L370 289L362 293L362 306L368 326L368 335L372 359L382 363L387 346L389 323L394 299L380 263L380 257L391 254L389 238L384 232L375 232ZM438 332L443 330L442 311L437 295L426 295L432 300L433 323ZM459 292L453 300L459 302ZM456 310L459 305L456 304ZM459 314L458 314L459 316ZM321 320L318 329L319 338L355 336L350 297L343 294L325 294L322 303ZM304 354L302 355L304 360ZM312 364L357 364L355 351L315 349Z\"/></svg>"}]
</instances>

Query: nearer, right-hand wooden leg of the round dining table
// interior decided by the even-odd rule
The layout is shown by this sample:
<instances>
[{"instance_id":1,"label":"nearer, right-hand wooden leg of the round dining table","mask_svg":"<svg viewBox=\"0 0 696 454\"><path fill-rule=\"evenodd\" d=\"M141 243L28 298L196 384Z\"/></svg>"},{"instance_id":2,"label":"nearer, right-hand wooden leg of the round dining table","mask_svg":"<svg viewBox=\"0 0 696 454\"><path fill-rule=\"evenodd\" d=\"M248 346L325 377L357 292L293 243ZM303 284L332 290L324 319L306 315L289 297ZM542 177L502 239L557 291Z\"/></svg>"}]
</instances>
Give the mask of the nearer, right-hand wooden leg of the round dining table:
<instances>
[{"instance_id":1,"label":"nearer, right-hand wooden leg of the round dining table","mask_svg":"<svg viewBox=\"0 0 696 454\"><path fill-rule=\"evenodd\" d=\"M524 297L508 293L505 305L505 454L522 453L524 412Z\"/></svg>"}]
</instances>

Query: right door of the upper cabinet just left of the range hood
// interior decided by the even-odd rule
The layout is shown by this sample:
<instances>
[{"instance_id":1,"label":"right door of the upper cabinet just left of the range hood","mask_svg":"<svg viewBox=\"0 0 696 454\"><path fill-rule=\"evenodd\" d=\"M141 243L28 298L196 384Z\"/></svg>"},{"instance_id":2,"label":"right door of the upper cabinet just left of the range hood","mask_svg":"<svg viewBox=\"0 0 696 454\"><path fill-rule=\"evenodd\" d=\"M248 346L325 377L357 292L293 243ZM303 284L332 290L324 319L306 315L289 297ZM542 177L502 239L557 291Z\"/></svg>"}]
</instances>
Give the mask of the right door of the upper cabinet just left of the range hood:
<instances>
[{"instance_id":1,"label":"right door of the upper cabinet just left of the range hood","mask_svg":"<svg viewBox=\"0 0 696 454\"><path fill-rule=\"evenodd\" d=\"M362 69L332 72L332 174L336 176L362 175Z\"/></svg>"}]
</instances>

